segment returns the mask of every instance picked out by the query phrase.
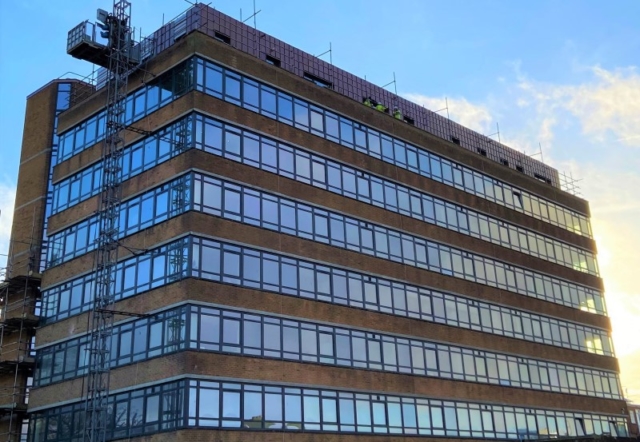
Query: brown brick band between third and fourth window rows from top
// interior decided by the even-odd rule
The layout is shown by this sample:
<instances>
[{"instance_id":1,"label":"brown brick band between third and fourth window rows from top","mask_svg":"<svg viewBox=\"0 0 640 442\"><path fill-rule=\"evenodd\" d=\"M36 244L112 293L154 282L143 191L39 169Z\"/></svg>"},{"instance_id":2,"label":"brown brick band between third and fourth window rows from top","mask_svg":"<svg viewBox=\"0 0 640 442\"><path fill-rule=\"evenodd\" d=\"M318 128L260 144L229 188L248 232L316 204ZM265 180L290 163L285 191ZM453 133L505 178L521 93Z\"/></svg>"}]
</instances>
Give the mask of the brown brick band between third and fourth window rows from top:
<instances>
[{"instance_id":1,"label":"brown brick band between third and fourth window rows from top","mask_svg":"<svg viewBox=\"0 0 640 442\"><path fill-rule=\"evenodd\" d=\"M122 241L124 247L120 257L124 259L130 254L127 248L133 250L150 249L172 238L184 235L185 232L201 233L205 236L217 237L222 240L240 242L249 247L255 246L261 249L294 255L302 259L311 259L329 265L334 264L338 267L346 267L365 274L406 281L410 284L433 288L448 293L463 294L467 297L483 299L489 302L602 329L609 328L609 319L604 316L593 315L575 308L480 285L461 278L455 278L385 259L374 258L342 248L264 230L235 221L212 217L199 212L187 212L124 238ZM43 290L71 279L76 275L90 272L93 268L94 253L95 252L90 252L48 270L43 276Z\"/></svg>"}]
</instances>

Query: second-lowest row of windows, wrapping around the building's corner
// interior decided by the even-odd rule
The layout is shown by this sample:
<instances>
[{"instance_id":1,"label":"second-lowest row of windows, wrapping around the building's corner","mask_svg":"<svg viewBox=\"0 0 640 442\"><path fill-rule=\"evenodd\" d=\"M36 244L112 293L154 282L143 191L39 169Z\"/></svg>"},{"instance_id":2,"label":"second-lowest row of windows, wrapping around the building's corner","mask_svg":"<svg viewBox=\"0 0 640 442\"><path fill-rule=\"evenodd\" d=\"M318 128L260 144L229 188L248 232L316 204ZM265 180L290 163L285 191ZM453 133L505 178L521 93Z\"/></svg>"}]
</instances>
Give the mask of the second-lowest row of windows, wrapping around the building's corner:
<instances>
[{"instance_id":1,"label":"second-lowest row of windows, wrapping around the building's corner","mask_svg":"<svg viewBox=\"0 0 640 442\"><path fill-rule=\"evenodd\" d=\"M282 351L281 335L286 339ZM301 347L298 336L302 336ZM83 350L86 342L85 336L39 350L35 384L43 386L83 374L87 367ZM616 374L612 372L204 306L180 307L158 314L153 320L116 325L114 342L114 367L190 348L620 397ZM489 369L485 368L487 365ZM245 402L244 409L247 407Z\"/></svg>"}]
</instances>

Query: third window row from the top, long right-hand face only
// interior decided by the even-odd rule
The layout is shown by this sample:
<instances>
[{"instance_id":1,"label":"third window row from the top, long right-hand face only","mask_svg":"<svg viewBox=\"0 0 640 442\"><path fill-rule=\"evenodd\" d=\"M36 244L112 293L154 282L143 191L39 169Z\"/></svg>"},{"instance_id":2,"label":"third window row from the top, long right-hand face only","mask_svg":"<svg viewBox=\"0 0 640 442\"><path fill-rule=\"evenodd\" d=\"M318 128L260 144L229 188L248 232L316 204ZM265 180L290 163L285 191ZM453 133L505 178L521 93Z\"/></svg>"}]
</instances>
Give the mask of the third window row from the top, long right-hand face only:
<instances>
[{"instance_id":1,"label":"third window row from the top, long right-hand face only","mask_svg":"<svg viewBox=\"0 0 640 442\"><path fill-rule=\"evenodd\" d=\"M258 192L255 190L246 189L245 187L231 185L224 181L206 176L197 175L196 182L196 186L204 186L202 188L202 192L206 192L207 188L222 189L222 195L219 195L219 191L216 190L217 196L214 198L214 201L219 198L227 201L228 198L231 198L231 200L234 201L234 208L242 206L242 204L239 202L239 199L244 199L247 194L259 195L260 198L275 199L276 203L280 205L281 225L280 227L275 227L271 226L270 223L260 223L262 227L276 229L284 233L290 233L304 238L310 238L316 241L328 241L329 244L339 247L373 254L374 256L389 259L392 261L404 262L405 264L409 265L425 268L428 267L430 270L439 271L444 274L451 274L451 263L455 260L454 257L462 256L463 260L468 259L470 263L473 263L473 268L470 267L469 269L467 269L465 265L465 273L463 275L455 276L481 282L491 286L499 286L500 288L515 291L517 293L528 296L543 296L550 300L557 301L556 296L553 293L553 287L555 286L572 289L576 293L579 292L581 296L585 297L587 296L587 291L590 292L589 296L600 296L593 293L591 289L585 288L583 286L578 286L574 283L569 283L557 278L551 278L546 275L541 275L529 270L517 268L515 266L505 265L501 262L489 258L479 257L468 252L461 252L457 249L442 244L433 243L431 241L426 241L413 235L396 232L383 228L381 226L372 226L369 223L365 223L360 220L352 219L339 214L329 213L331 218L331 225L329 229L330 237L325 238L322 236L322 232L326 231L326 228L322 227L323 224L320 224L320 232L318 232L316 230L316 226L313 223L313 218L316 213L318 214L318 216L316 216L317 219L324 219L324 216L322 215L327 212L322 209L307 206L301 203L295 203L293 201L288 201L284 198L277 198L272 195L267 195L264 192ZM208 211L207 207L200 206L199 204L196 204L195 208L196 210L203 210L205 212ZM234 210L223 210L221 216L225 218L238 219ZM245 215L240 214L240 219L242 221L245 221ZM371 235L368 233L371 230L375 232L372 242L369 243L368 241L370 240L360 241L360 238L371 238ZM345 238L347 238L347 244L344 243ZM369 250L366 247L367 244L372 247L372 250ZM425 250L428 251L428 256L423 258ZM419 261L419 259L421 259L421 261ZM499 278L497 278L496 272L500 274ZM515 287L508 287L504 285L506 281L513 280L512 278L507 277L511 274L511 272L517 272L517 275L523 276L523 278L520 278L521 282L518 282L518 278L516 278L517 285ZM498 284L498 280L502 281L500 285ZM302 277L301 281L304 283L304 289L309 291L314 290L312 285L315 283L315 281L309 280L306 277ZM562 300L562 303L577 305L579 301L575 299L568 300L564 298Z\"/></svg>"}]
</instances>

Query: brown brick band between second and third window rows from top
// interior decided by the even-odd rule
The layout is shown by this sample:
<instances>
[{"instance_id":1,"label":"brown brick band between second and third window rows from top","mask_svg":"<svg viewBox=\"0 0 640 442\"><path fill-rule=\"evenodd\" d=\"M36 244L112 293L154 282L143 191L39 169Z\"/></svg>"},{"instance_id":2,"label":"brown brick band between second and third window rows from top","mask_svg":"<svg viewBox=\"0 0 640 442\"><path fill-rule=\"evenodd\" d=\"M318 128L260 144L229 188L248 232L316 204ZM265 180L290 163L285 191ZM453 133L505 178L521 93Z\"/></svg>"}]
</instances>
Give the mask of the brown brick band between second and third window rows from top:
<instances>
[{"instance_id":1,"label":"brown brick band between second and third window rows from top","mask_svg":"<svg viewBox=\"0 0 640 442\"><path fill-rule=\"evenodd\" d=\"M306 201L309 204L367 222L432 239L464 251L490 258L497 257L502 262L531 269L538 273L602 290L602 280L596 276L195 149L127 180L122 189L123 197L132 197L167 182L180 173L194 169L217 175L223 179L246 183L266 192ZM99 198L100 196L94 196L51 217L49 234L75 224L78 219L95 214Z\"/></svg>"}]
</instances>

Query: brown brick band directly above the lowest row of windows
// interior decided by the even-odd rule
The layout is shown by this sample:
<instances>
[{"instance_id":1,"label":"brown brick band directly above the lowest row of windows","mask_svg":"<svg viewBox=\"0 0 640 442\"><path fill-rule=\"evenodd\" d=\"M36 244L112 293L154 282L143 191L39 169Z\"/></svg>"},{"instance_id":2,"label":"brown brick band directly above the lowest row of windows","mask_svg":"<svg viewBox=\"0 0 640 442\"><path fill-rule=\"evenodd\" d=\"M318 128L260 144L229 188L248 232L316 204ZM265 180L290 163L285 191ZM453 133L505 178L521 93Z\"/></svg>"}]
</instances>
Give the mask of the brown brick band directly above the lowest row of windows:
<instances>
[{"instance_id":1,"label":"brown brick band directly above the lowest row of windows","mask_svg":"<svg viewBox=\"0 0 640 442\"><path fill-rule=\"evenodd\" d=\"M409 394L434 399L490 402L594 413L617 413L624 401L508 388L458 380L411 376L373 370L319 366L292 361L184 351L111 370L110 388L135 388L179 375L202 375L243 380L322 386L345 390ZM83 379L34 388L30 407L39 408L82 397Z\"/></svg>"}]
</instances>

